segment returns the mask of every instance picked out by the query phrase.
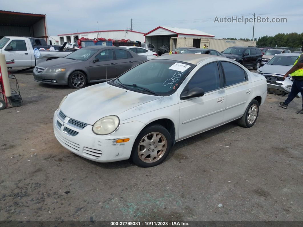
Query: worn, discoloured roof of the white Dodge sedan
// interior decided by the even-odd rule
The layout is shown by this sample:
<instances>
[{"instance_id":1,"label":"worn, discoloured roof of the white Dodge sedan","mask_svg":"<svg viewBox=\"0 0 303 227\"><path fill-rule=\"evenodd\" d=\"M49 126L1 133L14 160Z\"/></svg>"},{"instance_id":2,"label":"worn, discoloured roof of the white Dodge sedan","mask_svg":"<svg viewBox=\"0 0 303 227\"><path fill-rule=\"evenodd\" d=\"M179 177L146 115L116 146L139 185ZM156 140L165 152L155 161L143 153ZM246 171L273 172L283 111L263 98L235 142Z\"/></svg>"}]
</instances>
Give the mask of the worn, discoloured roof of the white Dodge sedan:
<instances>
[{"instance_id":1,"label":"worn, discoloured roof of the white Dodge sedan","mask_svg":"<svg viewBox=\"0 0 303 227\"><path fill-rule=\"evenodd\" d=\"M187 62L191 64L198 64L201 61L204 61L208 58L222 58L226 59L221 56L217 55L201 55L201 54L171 54L171 55L164 55L164 56L159 56L157 58L154 58L153 60L158 60L158 59L165 59L165 60L174 60L174 61L180 61L180 62Z\"/></svg>"}]
</instances>

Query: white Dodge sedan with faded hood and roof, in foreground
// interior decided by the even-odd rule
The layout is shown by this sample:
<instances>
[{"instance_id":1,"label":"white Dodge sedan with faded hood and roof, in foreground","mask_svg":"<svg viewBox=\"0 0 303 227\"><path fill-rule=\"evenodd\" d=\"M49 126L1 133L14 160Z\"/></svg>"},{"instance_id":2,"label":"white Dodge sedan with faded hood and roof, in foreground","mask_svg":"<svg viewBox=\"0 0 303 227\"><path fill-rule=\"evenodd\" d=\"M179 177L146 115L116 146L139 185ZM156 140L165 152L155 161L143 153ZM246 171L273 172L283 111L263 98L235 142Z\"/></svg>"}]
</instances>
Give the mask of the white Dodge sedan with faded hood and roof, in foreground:
<instances>
[{"instance_id":1,"label":"white Dodge sedan with faded hood and roof, in foreground","mask_svg":"<svg viewBox=\"0 0 303 227\"><path fill-rule=\"evenodd\" d=\"M231 59L166 55L65 96L53 128L63 147L86 159L151 167L175 142L236 119L253 126L266 95L265 77Z\"/></svg>"}]
</instances>

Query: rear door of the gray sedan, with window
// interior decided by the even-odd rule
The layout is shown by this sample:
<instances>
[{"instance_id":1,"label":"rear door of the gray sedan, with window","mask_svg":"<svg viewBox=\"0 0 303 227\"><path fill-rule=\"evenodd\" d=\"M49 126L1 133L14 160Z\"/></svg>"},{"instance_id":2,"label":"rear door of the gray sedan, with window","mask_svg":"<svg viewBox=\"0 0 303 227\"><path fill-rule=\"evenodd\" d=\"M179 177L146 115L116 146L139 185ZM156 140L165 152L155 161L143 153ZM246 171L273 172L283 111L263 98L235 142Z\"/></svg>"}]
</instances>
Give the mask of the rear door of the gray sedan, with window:
<instances>
[{"instance_id":1,"label":"rear door of the gray sedan, with window","mask_svg":"<svg viewBox=\"0 0 303 227\"><path fill-rule=\"evenodd\" d=\"M116 75L119 76L122 73L126 72L128 69L137 65L134 62L134 58L131 53L127 50L123 49L114 49L115 53L115 62L116 62Z\"/></svg>"}]
</instances>

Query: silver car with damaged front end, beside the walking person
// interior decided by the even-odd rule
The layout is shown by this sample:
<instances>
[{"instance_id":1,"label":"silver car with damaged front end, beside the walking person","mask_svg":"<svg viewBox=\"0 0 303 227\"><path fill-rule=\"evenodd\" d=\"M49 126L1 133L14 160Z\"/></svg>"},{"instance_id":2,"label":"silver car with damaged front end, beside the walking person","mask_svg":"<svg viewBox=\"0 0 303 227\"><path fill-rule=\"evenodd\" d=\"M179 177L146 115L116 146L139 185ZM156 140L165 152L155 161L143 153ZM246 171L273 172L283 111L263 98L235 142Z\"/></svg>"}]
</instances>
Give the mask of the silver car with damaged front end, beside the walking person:
<instances>
[{"instance_id":1,"label":"silver car with damaged front end, beside the walking person","mask_svg":"<svg viewBox=\"0 0 303 227\"><path fill-rule=\"evenodd\" d=\"M277 54L257 70L257 73L265 76L269 92L289 94L293 81L291 77L283 80L283 76L292 68L299 56L300 54L293 53ZM301 93L297 97L300 98Z\"/></svg>"}]
</instances>

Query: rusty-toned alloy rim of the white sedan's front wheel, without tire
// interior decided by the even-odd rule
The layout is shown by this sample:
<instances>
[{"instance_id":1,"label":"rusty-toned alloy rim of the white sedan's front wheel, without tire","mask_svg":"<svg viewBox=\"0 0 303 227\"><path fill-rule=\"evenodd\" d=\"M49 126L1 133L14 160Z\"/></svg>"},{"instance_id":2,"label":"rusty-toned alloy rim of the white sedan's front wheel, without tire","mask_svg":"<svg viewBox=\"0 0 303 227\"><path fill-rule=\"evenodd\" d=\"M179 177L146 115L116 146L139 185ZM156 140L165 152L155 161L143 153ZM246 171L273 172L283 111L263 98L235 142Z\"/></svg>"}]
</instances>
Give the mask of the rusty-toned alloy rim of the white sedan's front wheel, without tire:
<instances>
[{"instance_id":1,"label":"rusty-toned alloy rim of the white sedan's front wheel, without tire","mask_svg":"<svg viewBox=\"0 0 303 227\"><path fill-rule=\"evenodd\" d=\"M138 156L143 162L156 162L162 158L167 148L167 139L159 132L151 132L143 137L138 146Z\"/></svg>"}]
</instances>

